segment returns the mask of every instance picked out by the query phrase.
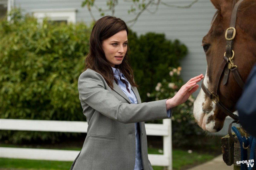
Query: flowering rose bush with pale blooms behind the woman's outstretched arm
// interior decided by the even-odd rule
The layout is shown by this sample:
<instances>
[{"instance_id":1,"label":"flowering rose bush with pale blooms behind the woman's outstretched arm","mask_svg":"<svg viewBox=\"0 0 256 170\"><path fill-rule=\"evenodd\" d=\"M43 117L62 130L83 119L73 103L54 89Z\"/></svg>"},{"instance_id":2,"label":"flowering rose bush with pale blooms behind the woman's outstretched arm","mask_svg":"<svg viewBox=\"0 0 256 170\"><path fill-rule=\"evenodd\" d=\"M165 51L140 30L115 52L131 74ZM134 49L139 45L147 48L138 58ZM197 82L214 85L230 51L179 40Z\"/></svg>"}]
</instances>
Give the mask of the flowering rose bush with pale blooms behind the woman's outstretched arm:
<instances>
[{"instance_id":1,"label":"flowering rose bush with pale blooms behind the woman's outstretched arm","mask_svg":"<svg viewBox=\"0 0 256 170\"><path fill-rule=\"evenodd\" d=\"M169 67L168 78L158 82L155 90L147 95L155 100L172 98L184 84L180 78L181 69L181 67ZM202 130L192 116L193 103L194 99L191 95L185 103L172 108L172 142L175 147L199 144L196 137L201 135ZM159 120L152 121L151 123L159 123Z\"/></svg>"}]
</instances>

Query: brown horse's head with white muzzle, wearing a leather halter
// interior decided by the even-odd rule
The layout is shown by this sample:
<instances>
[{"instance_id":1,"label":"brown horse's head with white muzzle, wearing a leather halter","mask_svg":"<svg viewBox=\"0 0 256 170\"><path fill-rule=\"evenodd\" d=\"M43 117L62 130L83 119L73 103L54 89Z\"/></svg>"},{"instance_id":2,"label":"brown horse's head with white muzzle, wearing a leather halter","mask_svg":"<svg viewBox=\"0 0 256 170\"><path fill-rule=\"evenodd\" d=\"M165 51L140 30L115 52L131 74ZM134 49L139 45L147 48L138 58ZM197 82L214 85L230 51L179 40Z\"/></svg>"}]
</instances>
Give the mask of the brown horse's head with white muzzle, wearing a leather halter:
<instances>
[{"instance_id":1,"label":"brown horse's head with white muzzle, wearing a leather halter","mask_svg":"<svg viewBox=\"0 0 256 170\"><path fill-rule=\"evenodd\" d=\"M223 85L223 74L218 78L219 70L226 51L225 32L230 26L231 13L236 0L211 0L217 8L212 25L202 40L207 60L207 70L204 86L208 91L215 91L218 86L219 101L231 112L235 111L235 104L242 89L229 73L228 81ZM256 1L244 0L237 11L236 35L233 40L233 63L246 81L251 68L256 62ZM223 71L224 72L224 71ZM217 99L215 99L217 100ZM215 102L201 89L194 102L194 117L198 125L205 131L218 132L222 129L226 114L216 106Z\"/></svg>"}]
</instances>

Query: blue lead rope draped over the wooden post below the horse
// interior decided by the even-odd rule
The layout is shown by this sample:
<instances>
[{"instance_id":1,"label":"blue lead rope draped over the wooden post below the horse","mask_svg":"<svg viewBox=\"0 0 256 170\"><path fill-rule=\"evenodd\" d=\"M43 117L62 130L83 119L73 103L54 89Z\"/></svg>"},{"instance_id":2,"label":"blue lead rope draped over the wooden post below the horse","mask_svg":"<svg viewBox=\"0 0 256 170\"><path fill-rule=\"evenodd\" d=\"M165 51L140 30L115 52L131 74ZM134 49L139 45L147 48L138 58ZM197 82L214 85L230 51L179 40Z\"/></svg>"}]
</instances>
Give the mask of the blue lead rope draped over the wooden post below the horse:
<instances>
[{"instance_id":1,"label":"blue lead rope draped over the wooden post below the horse","mask_svg":"<svg viewBox=\"0 0 256 170\"><path fill-rule=\"evenodd\" d=\"M256 160L255 159L255 147L256 147L256 138L253 136L250 137L242 137L240 132L237 130L235 126L232 127L232 130L235 132L237 135L237 138L240 143L240 148L241 148L241 161L246 161L247 160L247 147L249 148L250 146L250 158L249 160ZM246 149L244 149L246 148ZM252 170L251 166L247 166L247 164L240 164L241 165L241 170ZM256 167L255 162L253 167Z\"/></svg>"}]
</instances>

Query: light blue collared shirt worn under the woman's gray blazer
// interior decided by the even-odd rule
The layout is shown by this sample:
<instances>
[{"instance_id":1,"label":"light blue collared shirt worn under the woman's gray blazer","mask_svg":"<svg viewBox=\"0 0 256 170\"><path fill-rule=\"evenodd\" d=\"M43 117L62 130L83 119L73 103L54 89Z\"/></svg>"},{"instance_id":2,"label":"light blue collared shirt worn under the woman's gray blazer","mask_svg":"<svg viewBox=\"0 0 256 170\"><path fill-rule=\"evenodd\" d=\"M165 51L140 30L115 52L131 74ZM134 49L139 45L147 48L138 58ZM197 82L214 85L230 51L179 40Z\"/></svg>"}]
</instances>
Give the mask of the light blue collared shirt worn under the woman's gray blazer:
<instances>
[{"instance_id":1,"label":"light blue collared shirt worn under the woman's gray blazer","mask_svg":"<svg viewBox=\"0 0 256 170\"><path fill-rule=\"evenodd\" d=\"M120 72L119 69L113 68L113 73L114 73L114 77L116 78L117 82L118 82L118 86L122 89L122 91L124 92L124 94L129 98L129 100L131 101L131 103L133 104L138 104L137 102L137 98L135 96L135 94L132 91L131 88L131 84L124 78L123 73ZM121 81L121 79L126 81L128 84L128 89L130 91L130 93L128 92L128 90L126 89L126 85ZM171 116L171 110L167 111L167 116L170 117ZM138 127L137 127L138 123L135 123L135 143L136 143L136 154L135 154L135 166L134 166L134 170L141 170L143 169L142 166L142 160L141 160L141 142L140 142L140 137L139 137L139 133L138 133Z\"/></svg>"}]
</instances>

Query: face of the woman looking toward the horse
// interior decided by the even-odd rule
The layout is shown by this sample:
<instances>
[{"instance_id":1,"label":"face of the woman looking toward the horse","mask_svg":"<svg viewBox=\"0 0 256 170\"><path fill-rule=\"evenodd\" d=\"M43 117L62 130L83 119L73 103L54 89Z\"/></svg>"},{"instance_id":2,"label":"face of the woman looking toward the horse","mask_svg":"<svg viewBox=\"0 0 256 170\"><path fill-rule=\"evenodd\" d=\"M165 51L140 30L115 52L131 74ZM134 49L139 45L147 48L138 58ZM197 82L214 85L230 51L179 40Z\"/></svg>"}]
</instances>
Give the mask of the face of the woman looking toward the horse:
<instances>
[{"instance_id":1,"label":"face of the woman looking toward the horse","mask_svg":"<svg viewBox=\"0 0 256 170\"><path fill-rule=\"evenodd\" d=\"M122 63L127 51L127 41L126 30L120 31L102 41L102 49L111 67Z\"/></svg>"}]
</instances>

